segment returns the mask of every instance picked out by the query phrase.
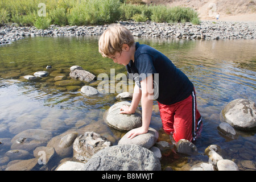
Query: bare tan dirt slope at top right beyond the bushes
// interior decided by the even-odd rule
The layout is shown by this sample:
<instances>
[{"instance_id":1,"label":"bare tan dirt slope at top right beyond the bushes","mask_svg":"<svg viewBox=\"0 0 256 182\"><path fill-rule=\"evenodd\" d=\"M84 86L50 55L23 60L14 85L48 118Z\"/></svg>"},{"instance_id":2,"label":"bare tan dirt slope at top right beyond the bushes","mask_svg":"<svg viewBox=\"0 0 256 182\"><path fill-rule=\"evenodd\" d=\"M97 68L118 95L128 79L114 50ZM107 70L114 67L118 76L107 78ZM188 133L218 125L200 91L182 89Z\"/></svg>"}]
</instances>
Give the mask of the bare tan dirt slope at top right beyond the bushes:
<instances>
[{"instance_id":1,"label":"bare tan dirt slope at top right beyond the bushes","mask_svg":"<svg viewBox=\"0 0 256 182\"><path fill-rule=\"evenodd\" d=\"M220 20L255 21L256 0L142 0L148 4L164 4L167 6L192 7L199 13L202 20L216 19L220 14Z\"/></svg>"}]
</instances>

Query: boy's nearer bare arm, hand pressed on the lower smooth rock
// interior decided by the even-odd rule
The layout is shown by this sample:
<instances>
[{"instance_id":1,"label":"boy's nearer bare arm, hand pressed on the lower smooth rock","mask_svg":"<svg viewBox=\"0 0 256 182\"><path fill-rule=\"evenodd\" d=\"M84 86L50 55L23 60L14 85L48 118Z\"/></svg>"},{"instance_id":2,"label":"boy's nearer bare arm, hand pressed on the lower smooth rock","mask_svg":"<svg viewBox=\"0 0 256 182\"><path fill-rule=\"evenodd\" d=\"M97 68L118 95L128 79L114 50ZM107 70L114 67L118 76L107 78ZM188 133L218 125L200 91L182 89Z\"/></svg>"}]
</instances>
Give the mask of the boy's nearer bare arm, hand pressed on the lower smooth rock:
<instances>
[{"instance_id":1,"label":"boy's nearer bare arm, hand pressed on the lower smooth rock","mask_svg":"<svg viewBox=\"0 0 256 182\"><path fill-rule=\"evenodd\" d=\"M127 138L134 138L137 135L147 133L151 121L153 107L153 76L148 76L141 81L141 105L142 105L142 126L129 131Z\"/></svg>"}]
</instances>

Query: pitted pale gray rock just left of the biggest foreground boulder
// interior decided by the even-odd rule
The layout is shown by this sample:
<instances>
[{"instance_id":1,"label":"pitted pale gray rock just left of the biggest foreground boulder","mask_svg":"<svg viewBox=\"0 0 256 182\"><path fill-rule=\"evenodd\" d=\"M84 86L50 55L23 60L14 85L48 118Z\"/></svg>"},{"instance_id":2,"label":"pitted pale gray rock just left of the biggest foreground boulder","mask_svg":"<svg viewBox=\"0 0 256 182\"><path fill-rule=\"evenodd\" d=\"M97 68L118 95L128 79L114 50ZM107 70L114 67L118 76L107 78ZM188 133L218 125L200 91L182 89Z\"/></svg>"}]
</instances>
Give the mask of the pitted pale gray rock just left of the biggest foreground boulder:
<instances>
[{"instance_id":1,"label":"pitted pale gray rock just left of the biggest foreground boulder","mask_svg":"<svg viewBox=\"0 0 256 182\"><path fill-rule=\"evenodd\" d=\"M73 157L81 162L87 162L94 154L112 145L108 139L94 132L85 132L73 143Z\"/></svg>"}]
</instances>

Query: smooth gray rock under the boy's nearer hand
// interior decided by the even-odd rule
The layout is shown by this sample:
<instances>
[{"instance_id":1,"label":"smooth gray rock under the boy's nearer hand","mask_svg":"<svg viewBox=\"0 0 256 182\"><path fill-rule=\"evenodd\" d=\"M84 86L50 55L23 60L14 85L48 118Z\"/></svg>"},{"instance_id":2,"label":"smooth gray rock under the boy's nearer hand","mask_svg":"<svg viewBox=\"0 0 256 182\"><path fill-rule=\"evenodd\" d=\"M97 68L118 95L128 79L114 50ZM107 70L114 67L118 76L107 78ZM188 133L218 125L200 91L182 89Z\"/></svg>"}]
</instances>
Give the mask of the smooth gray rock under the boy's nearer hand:
<instances>
[{"instance_id":1,"label":"smooth gray rock under the boy's nearer hand","mask_svg":"<svg viewBox=\"0 0 256 182\"><path fill-rule=\"evenodd\" d=\"M156 140L158 140L159 134L158 131L152 129L151 127L148 129L148 132L145 134L137 135L136 137L130 139L127 138L129 132L127 132L118 142L118 144L137 144L144 148L149 149L154 146Z\"/></svg>"}]
</instances>

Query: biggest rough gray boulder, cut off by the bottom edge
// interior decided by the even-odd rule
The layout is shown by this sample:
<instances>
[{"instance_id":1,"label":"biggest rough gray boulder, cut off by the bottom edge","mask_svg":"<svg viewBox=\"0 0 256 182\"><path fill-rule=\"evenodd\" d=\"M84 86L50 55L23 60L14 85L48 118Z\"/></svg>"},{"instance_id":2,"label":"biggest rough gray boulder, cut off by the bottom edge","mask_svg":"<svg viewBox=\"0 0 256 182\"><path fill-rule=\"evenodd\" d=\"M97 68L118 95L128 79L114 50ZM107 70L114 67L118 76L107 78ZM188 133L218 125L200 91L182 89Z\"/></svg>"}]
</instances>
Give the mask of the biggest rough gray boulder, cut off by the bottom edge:
<instances>
[{"instance_id":1,"label":"biggest rough gray boulder, cut off by the bottom edge","mask_svg":"<svg viewBox=\"0 0 256 182\"><path fill-rule=\"evenodd\" d=\"M159 171L159 159L147 148L118 144L93 155L85 164L86 171Z\"/></svg>"}]
</instances>

